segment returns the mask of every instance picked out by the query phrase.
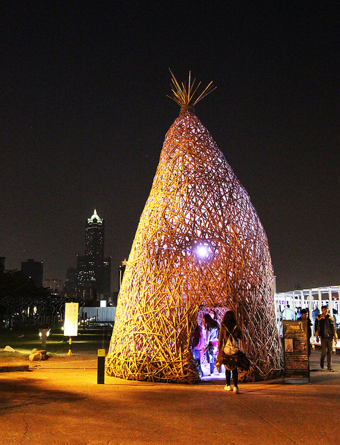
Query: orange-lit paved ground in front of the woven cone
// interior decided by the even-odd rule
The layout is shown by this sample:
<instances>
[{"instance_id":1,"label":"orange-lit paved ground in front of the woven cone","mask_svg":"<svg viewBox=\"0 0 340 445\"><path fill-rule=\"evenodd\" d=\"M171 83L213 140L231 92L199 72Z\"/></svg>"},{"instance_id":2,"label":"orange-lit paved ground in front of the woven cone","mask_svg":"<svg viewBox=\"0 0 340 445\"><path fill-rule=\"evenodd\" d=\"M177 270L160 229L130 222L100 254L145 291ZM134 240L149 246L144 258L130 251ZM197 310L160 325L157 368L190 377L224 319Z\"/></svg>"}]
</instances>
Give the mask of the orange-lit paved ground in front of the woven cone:
<instances>
[{"instance_id":1,"label":"orange-lit paved ground in front of the woven cone","mask_svg":"<svg viewBox=\"0 0 340 445\"><path fill-rule=\"evenodd\" d=\"M218 379L97 385L93 355L52 357L30 372L0 373L0 444L338 444L340 355L335 373L318 368L319 356L311 384L242 384L241 394Z\"/></svg>"}]
</instances>

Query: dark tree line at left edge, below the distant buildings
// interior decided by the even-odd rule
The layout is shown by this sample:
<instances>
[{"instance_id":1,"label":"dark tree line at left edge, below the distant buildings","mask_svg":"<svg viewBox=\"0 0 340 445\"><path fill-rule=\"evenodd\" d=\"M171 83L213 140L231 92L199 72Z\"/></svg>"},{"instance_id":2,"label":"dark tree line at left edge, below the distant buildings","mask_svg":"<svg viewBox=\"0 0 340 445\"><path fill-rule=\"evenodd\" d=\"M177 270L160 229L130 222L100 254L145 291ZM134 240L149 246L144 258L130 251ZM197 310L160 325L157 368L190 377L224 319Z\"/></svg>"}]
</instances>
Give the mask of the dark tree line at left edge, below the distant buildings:
<instances>
[{"instance_id":1,"label":"dark tree line at left edge, below the distant buildings","mask_svg":"<svg viewBox=\"0 0 340 445\"><path fill-rule=\"evenodd\" d=\"M49 288L38 288L19 270L0 273L0 325L6 329L58 325L64 318L65 302L70 301ZM82 300L79 306L83 306Z\"/></svg>"}]
</instances>

